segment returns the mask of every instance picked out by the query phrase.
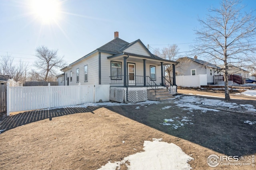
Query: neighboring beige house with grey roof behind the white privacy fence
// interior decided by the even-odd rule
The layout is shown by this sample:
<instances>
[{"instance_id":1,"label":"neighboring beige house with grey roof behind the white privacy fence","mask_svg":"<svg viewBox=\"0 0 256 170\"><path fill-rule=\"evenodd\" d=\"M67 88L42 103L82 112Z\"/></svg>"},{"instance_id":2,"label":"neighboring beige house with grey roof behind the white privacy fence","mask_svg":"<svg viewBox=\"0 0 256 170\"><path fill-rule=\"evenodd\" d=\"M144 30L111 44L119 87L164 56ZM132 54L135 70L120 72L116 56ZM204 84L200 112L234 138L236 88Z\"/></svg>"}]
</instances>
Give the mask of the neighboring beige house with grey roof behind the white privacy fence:
<instances>
[{"instance_id":1,"label":"neighboring beige house with grey roof behind the white privacy fence","mask_svg":"<svg viewBox=\"0 0 256 170\"><path fill-rule=\"evenodd\" d=\"M179 63L176 66L177 76L195 76L199 74L206 74L207 84L214 84L214 74L220 67L208 63L206 61L198 60L197 56L194 58L182 57L177 60Z\"/></svg>"}]
</instances>

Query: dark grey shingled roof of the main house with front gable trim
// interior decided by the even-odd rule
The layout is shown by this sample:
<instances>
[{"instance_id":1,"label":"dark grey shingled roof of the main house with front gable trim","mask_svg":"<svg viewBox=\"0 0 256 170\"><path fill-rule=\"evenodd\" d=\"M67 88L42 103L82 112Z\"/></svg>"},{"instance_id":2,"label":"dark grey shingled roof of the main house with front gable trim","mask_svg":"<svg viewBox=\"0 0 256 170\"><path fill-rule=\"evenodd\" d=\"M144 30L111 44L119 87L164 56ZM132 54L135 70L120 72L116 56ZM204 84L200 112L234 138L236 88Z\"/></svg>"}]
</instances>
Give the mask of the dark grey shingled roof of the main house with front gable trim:
<instances>
[{"instance_id":1,"label":"dark grey shingled roof of the main house with front gable trim","mask_svg":"<svg viewBox=\"0 0 256 170\"><path fill-rule=\"evenodd\" d=\"M150 55L150 57L148 56L142 56L142 55L136 55L136 54L131 54L131 53L127 53L124 52L126 49L128 49L129 47L131 47L132 45L134 45L135 43L139 42L144 49L148 52L148 54ZM90 55L97 53L97 52L102 52L102 53L109 53L112 54L112 56L109 56L108 59L110 58L114 58L117 57L119 55L134 55L137 57L143 57L143 58L154 58L156 60L160 60L160 61L165 61L165 62L172 62L172 63L178 63L177 61L170 61L170 60L166 60L166 59L162 59L156 55L153 55L152 53L150 53L150 51L145 47L145 45L140 41L140 39L132 42L132 43L128 43L118 37L116 37L115 39L113 39L112 41L106 43L105 45L97 48L96 50L92 51L91 53L85 55L84 57L78 59L77 61L69 64L68 66L62 68L61 70L65 70L66 68L69 68L70 66L72 66L73 64L78 63L79 61L85 59L86 57L89 57Z\"/></svg>"}]
</instances>

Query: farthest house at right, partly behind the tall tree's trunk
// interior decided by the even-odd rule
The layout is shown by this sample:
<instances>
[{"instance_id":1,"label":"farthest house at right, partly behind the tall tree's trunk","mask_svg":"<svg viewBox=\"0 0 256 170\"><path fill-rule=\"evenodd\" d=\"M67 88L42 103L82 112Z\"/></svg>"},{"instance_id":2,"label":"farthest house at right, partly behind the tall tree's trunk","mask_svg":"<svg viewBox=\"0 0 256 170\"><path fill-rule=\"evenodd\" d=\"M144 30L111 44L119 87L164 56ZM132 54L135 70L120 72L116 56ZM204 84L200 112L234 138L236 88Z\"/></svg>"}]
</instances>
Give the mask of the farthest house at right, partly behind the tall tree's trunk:
<instances>
[{"instance_id":1,"label":"farthest house at right, partly behind the tall tree's trunk","mask_svg":"<svg viewBox=\"0 0 256 170\"><path fill-rule=\"evenodd\" d=\"M224 75L224 65L218 65L218 75L223 76ZM228 74L241 76L242 78L250 78L250 72L246 71L242 68L239 68L237 66L234 66L232 64L228 64Z\"/></svg>"}]
</instances>

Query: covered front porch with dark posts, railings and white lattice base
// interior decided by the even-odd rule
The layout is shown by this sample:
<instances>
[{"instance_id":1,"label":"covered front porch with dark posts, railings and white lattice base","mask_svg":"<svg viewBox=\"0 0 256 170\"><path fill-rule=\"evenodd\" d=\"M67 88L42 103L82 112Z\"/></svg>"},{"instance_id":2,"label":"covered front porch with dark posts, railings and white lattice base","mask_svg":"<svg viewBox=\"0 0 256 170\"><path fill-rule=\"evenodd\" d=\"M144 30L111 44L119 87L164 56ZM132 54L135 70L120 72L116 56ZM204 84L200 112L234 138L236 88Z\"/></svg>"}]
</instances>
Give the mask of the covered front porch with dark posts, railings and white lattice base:
<instances>
[{"instance_id":1,"label":"covered front porch with dark posts, railings and white lattice base","mask_svg":"<svg viewBox=\"0 0 256 170\"><path fill-rule=\"evenodd\" d=\"M120 53L108 59L111 60L110 100L121 103L144 102L160 98L149 95L166 95L164 97L167 98L176 94L177 62L157 56L148 57L131 53ZM172 77L165 76L165 65L172 66Z\"/></svg>"}]
</instances>

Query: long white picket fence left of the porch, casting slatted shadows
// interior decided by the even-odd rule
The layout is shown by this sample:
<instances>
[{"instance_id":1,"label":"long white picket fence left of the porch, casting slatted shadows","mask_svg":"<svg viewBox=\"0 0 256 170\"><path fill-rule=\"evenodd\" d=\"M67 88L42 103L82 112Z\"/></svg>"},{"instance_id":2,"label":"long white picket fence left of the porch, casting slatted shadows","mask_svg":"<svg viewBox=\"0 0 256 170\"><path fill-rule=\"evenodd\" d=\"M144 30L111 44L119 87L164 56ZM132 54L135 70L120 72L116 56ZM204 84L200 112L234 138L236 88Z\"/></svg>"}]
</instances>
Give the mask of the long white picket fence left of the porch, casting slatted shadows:
<instances>
[{"instance_id":1,"label":"long white picket fence left of the porch, casting slatted shadows","mask_svg":"<svg viewBox=\"0 0 256 170\"><path fill-rule=\"evenodd\" d=\"M108 102L110 85L26 86L7 85L7 115L10 112Z\"/></svg>"}]
</instances>

